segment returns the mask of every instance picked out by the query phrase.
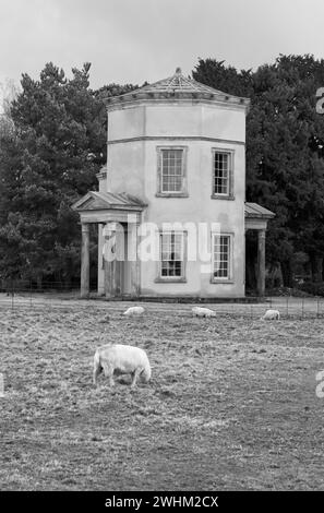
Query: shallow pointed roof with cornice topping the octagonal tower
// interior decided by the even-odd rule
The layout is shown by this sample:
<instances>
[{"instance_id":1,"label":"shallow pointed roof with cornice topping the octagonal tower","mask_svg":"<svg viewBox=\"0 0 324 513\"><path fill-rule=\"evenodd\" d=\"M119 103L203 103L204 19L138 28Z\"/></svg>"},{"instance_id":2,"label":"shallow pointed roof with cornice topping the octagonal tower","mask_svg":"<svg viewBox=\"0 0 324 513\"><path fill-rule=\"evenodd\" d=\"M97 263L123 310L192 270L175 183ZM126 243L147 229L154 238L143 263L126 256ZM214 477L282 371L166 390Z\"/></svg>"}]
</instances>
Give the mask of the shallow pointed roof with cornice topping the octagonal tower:
<instances>
[{"instance_id":1,"label":"shallow pointed roof with cornice topping the octagonal tower","mask_svg":"<svg viewBox=\"0 0 324 513\"><path fill-rule=\"evenodd\" d=\"M139 100L206 100L217 103L229 103L248 106L249 98L232 96L208 85L201 84L189 76L184 76L180 68L168 79L160 80L154 84L145 85L139 90L132 91L120 96L107 98L107 105L133 103Z\"/></svg>"}]
</instances>

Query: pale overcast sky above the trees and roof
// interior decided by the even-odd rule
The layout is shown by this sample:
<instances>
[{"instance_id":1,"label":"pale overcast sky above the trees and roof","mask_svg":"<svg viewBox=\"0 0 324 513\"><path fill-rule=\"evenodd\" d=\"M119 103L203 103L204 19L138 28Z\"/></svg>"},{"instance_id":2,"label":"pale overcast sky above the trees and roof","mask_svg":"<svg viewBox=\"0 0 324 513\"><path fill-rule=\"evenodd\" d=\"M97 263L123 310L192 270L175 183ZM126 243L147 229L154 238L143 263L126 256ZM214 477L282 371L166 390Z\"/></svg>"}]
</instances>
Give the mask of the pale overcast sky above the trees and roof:
<instances>
[{"instance_id":1,"label":"pale overcast sky above the trees and roof","mask_svg":"<svg viewBox=\"0 0 324 513\"><path fill-rule=\"evenodd\" d=\"M279 53L324 57L323 0L0 0L0 83L89 61L94 88L141 85L199 57L248 69Z\"/></svg>"}]
</instances>

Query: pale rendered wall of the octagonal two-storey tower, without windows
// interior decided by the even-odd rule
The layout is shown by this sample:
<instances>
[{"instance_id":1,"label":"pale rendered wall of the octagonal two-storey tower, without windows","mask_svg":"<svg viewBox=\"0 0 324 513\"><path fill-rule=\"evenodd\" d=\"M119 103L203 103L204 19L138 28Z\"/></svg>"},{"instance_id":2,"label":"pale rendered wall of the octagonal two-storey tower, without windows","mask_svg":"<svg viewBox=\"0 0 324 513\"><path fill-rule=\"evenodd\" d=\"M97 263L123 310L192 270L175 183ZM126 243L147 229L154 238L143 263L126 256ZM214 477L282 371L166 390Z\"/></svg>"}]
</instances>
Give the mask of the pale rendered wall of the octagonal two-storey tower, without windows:
<instances>
[{"instance_id":1,"label":"pale rendered wall of the octagonal two-storey tower, without windows","mask_svg":"<svg viewBox=\"0 0 324 513\"><path fill-rule=\"evenodd\" d=\"M158 264L142 263L141 290L147 296L240 297L244 295L245 112L212 104L151 104L108 115L107 190L145 202L143 220L219 223L232 235L232 283L211 283L201 263L187 263L187 283L156 283ZM188 198L157 198L157 146L185 146ZM233 200L212 199L213 150L235 152ZM158 236L158 235L156 235ZM211 236L208 235L211 249Z\"/></svg>"}]
</instances>

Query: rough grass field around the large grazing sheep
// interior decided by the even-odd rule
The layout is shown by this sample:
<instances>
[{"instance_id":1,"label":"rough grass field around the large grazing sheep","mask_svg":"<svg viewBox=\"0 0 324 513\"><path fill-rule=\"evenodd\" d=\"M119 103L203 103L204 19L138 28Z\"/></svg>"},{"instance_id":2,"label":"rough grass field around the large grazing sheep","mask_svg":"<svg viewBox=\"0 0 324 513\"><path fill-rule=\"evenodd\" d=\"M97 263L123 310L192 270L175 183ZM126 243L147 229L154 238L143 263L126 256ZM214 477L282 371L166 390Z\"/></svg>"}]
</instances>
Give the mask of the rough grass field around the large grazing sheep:
<instances>
[{"instance_id":1,"label":"rough grass field around the large grazing sheep","mask_svg":"<svg viewBox=\"0 0 324 513\"><path fill-rule=\"evenodd\" d=\"M124 308L0 309L1 490L324 489L323 319ZM106 343L146 349L152 382L94 390Z\"/></svg>"}]
</instances>

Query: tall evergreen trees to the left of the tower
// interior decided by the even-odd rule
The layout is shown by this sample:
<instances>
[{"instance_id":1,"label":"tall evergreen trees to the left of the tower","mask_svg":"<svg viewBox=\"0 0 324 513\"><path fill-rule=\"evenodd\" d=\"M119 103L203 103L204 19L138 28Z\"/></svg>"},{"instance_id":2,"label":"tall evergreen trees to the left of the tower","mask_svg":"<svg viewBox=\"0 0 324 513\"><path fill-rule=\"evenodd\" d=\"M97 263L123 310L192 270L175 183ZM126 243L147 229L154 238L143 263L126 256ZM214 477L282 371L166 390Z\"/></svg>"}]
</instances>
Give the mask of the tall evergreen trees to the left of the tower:
<instances>
[{"instance_id":1,"label":"tall evergreen trees to the left of the tower","mask_svg":"<svg viewBox=\"0 0 324 513\"><path fill-rule=\"evenodd\" d=\"M79 216L71 204L97 188L107 146L104 88L89 88L89 68L73 69L68 79L48 63L39 80L22 76L10 109L13 128L0 133L2 277L69 283L80 274Z\"/></svg>"}]
</instances>

